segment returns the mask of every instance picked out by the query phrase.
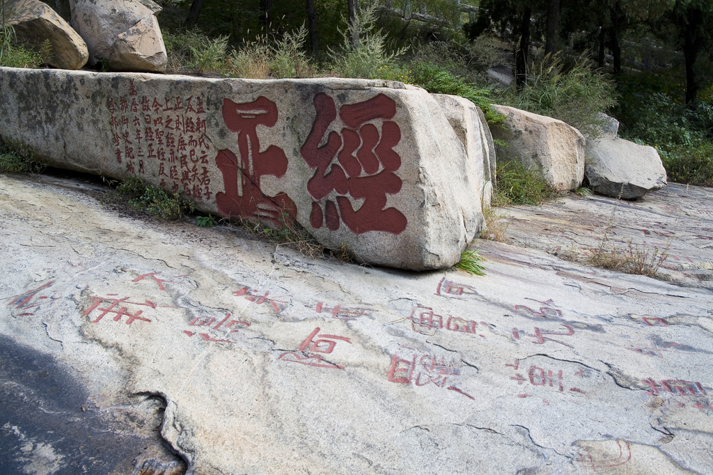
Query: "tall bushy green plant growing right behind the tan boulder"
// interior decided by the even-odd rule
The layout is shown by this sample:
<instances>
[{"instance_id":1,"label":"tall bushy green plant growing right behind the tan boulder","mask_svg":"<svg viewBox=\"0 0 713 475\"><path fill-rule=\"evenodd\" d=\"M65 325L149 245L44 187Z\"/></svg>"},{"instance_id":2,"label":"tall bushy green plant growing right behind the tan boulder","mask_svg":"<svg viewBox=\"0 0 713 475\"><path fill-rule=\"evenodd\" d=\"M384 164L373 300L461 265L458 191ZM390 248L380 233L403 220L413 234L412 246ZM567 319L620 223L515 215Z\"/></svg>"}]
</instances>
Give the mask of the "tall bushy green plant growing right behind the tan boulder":
<instances>
[{"instance_id":1,"label":"tall bushy green plant growing right behind the tan boulder","mask_svg":"<svg viewBox=\"0 0 713 475\"><path fill-rule=\"evenodd\" d=\"M586 54L571 65L560 54L535 59L525 86L508 88L501 98L504 105L558 118L588 138L600 136L604 125L597 113L617 103L614 81L593 68Z\"/></svg>"}]
</instances>

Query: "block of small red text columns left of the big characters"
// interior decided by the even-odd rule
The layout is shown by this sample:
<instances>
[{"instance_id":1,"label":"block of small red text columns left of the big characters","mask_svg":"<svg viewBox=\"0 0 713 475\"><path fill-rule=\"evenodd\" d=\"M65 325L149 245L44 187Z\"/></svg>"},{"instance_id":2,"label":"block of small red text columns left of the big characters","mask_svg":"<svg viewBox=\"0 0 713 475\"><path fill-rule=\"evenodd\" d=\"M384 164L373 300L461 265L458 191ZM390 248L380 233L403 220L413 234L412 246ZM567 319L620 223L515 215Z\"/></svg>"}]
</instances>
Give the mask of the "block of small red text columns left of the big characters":
<instances>
[{"instance_id":1,"label":"block of small red text columns left of the big characters","mask_svg":"<svg viewBox=\"0 0 713 475\"><path fill-rule=\"evenodd\" d=\"M156 174L160 186L194 200L210 200L207 125L202 98L138 96L110 98L115 158L129 175Z\"/></svg>"}]
</instances>

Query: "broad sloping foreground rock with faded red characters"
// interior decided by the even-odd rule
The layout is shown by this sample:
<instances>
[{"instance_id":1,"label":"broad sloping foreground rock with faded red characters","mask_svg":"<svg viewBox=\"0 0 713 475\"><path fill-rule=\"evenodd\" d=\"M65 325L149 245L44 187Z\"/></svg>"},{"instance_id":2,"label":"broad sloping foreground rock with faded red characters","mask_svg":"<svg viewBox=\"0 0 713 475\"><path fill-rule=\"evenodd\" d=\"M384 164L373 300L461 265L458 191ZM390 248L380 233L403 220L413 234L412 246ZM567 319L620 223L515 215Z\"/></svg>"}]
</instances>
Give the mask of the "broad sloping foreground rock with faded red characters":
<instances>
[{"instance_id":1,"label":"broad sloping foreground rock with faded red characters","mask_svg":"<svg viewBox=\"0 0 713 475\"><path fill-rule=\"evenodd\" d=\"M0 334L34 355L3 357L8 394L46 371L67 419L163 401L160 434L188 474L713 469L707 288L496 242L482 242L486 277L311 260L235 228L130 218L92 193L0 176ZM0 463L80 473L68 464L90 456L24 404L0 407ZM148 445L112 450L135 474L177 463Z\"/></svg>"}]
</instances>

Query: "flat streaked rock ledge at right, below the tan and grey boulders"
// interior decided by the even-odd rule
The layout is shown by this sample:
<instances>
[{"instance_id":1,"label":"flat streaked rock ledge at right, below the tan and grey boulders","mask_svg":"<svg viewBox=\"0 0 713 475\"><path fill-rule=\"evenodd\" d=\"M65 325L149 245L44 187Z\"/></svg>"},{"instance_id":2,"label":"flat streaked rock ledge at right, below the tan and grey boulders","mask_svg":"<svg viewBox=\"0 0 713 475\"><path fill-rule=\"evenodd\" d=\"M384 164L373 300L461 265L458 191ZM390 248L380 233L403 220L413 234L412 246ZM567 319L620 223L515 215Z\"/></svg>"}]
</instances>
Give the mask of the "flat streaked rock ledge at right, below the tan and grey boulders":
<instances>
[{"instance_id":1,"label":"flat streaked rock ledge at right, below the tan and grey boulders","mask_svg":"<svg viewBox=\"0 0 713 475\"><path fill-rule=\"evenodd\" d=\"M576 195L538 207L508 208L508 237L518 246L585 262L594 250L665 252L658 276L713 289L713 191L669 185L642 200ZM606 239L606 241L605 241Z\"/></svg>"}]
</instances>

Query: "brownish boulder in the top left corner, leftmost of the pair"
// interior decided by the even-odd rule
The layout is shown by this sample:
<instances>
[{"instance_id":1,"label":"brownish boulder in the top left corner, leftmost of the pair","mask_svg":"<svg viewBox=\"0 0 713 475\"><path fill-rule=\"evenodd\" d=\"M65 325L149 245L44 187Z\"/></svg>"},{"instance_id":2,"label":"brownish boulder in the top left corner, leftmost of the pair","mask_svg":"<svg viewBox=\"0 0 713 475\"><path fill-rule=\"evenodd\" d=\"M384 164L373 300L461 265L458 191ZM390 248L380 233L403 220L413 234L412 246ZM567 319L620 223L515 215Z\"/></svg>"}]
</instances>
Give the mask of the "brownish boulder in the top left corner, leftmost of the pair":
<instances>
[{"instance_id":1,"label":"brownish boulder in the top left corner, leftmost of the pair","mask_svg":"<svg viewBox=\"0 0 713 475\"><path fill-rule=\"evenodd\" d=\"M10 1L9 24L18 39L35 50L44 41L52 45L52 56L47 63L55 68L81 69L87 62L88 51L84 40L61 16L38 0Z\"/></svg>"}]
</instances>

